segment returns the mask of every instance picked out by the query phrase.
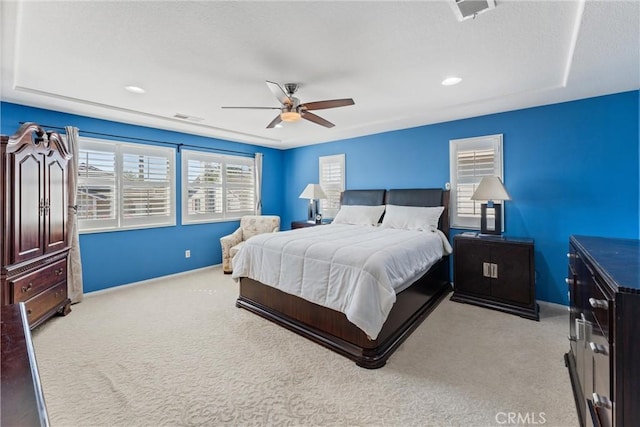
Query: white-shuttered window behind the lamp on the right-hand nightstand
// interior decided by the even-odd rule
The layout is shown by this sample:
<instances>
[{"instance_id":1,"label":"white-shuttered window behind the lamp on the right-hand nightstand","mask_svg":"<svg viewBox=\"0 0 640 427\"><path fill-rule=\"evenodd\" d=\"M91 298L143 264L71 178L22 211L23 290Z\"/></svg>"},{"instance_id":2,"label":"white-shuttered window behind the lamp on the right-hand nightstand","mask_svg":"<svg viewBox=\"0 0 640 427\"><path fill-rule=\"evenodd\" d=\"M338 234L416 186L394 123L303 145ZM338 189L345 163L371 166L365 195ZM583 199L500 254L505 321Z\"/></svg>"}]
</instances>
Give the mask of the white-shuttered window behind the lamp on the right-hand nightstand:
<instances>
[{"instance_id":1,"label":"white-shuttered window behind the lamp on the right-hand nightstand","mask_svg":"<svg viewBox=\"0 0 640 427\"><path fill-rule=\"evenodd\" d=\"M449 161L451 227L480 229L481 202L471 200L471 196L483 176L503 179L502 135L453 139L449 141Z\"/></svg>"}]
</instances>

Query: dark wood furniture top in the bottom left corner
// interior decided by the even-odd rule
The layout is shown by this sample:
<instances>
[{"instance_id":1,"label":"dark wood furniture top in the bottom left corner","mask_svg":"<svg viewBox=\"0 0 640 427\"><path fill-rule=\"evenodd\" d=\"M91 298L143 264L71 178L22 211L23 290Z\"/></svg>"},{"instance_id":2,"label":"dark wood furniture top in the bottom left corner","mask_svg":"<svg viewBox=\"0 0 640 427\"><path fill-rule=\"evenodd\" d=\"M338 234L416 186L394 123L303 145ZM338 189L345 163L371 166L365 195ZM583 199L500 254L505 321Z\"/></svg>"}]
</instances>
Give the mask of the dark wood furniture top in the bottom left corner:
<instances>
[{"instance_id":1,"label":"dark wood furniture top in the bottom left corner","mask_svg":"<svg viewBox=\"0 0 640 427\"><path fill-rule=\"evenodd\" d=\"M0 327L0 425L48 426L47 409L24 303L3 306L0 309Z\"/></svg>"}]
</instances>

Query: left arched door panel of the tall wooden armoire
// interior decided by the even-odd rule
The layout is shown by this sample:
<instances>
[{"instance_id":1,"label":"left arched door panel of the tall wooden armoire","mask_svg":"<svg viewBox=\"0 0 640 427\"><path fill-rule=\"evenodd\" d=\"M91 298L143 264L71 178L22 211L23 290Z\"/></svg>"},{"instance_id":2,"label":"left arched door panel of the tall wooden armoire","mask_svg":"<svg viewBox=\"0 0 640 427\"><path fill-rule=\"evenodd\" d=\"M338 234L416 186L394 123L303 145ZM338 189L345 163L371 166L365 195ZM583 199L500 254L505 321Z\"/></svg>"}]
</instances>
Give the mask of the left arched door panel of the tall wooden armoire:
<instances>
[{"instance_id":1,"label":"left arched door panel of the tall wooden armoire","mask_svg":"<svg viewBox=\"0 0 640 427\"><path fill-rule=\"evenodd\" d=\"M12 261L20 262L43 254L44 170L40 155L27 151L15 156Z\"/></svg>"}]
</instances>

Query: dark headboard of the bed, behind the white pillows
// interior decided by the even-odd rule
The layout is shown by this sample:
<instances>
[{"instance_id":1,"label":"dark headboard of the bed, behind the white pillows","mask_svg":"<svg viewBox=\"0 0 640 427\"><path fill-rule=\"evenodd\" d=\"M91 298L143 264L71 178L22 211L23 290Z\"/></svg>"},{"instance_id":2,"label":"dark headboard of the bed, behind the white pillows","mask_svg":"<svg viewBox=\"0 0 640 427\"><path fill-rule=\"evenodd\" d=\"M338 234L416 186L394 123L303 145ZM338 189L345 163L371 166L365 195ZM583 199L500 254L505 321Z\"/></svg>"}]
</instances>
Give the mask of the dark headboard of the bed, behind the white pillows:
<instances>
[{"instance_id":1,"label":"dark headboard of the bed, behind the white pillows","mask_svg":"<svg viewBox=\"0 0 640 427\"><path fill-rule=\"evenodd\" d=\"M345 190L341 205L444 206L438 228L449 237L449 190L442 188L406 188L393 190Z\"/></svg>"}]
</instances>

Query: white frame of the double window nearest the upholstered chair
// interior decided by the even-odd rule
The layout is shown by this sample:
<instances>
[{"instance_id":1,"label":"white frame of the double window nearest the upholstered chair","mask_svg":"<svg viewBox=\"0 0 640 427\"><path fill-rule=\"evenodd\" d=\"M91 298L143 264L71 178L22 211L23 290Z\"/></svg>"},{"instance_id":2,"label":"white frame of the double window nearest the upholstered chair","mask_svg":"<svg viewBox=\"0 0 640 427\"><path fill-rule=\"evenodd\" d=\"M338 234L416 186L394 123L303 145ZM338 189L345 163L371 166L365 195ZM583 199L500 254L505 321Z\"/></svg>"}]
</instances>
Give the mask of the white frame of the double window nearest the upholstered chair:
<instances>
[{"instance_id":1,"label":"white frame of the double window nearest the upholstered chair","mask_svg":"<svg viewBox=\"0 0 640 427\"><path fill-rule=\"evenodd\" d=\"M191 224L203 224L210 222L221 222L221 221L233 221L238 220L244 215L256 215L257 209L255 204L255 192L258 191L256 187L256 165L253 157L246 156L229 156L218 153L206 152L206 151L198 151L198 150L188 150L182 149L182 225L191 225ZM191 159L201 159L205 161L219 161L222 166L222 182L219 184L222 189L222 212L220 213L207 213L207 214L189 214L189 165L188 162ZM253 191L254 198L252 199L252 208L244 211L238 212L228 212L228 204L227 204L227 190L229 188L233 188L233 184L227 183L226 180L226 167L228 163L234 164L246 164L251 167L253 172ZM242 185L239 188L244 187Z\"/></svg>"}]
</instances>

